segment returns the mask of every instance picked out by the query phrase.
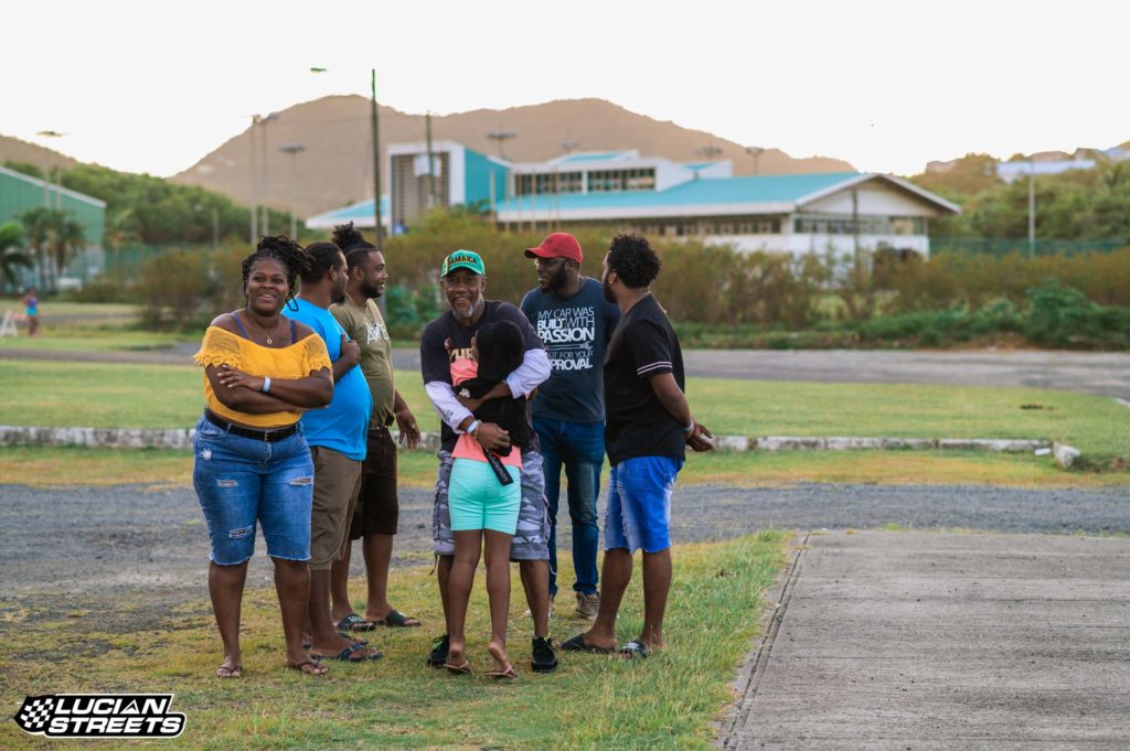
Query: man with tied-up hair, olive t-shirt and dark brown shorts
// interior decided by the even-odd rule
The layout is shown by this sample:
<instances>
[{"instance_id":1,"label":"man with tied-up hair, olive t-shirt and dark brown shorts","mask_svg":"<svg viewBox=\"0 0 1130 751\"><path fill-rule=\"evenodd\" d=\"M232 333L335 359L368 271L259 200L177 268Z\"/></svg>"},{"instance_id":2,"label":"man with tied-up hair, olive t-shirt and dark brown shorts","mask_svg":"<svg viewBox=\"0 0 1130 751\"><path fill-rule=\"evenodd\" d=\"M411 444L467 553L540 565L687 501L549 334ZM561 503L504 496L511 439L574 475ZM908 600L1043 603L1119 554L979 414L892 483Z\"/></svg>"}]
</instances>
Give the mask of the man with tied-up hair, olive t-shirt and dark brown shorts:
<instances>
[{"instance_id":1,"label":"man with tied-up hair, olive t-shirt and dark brown shorts","mask_svg":"<svg viewBox=\"0 0 1130 751\"><path fill-rule=\"evenodd\" d=\"M420 430L408 404L395 388L392 340L381 309L373 300L384 294L389 281L384 254L354 229L353 222L336 227L333 242L346 255L348 281L341 303L330 307L346 334L360 347L360 369L373 396L365 461L360 471L360 495L349 526L345 557L331 569L332 618L338 628L366 630L373 623L418 627L419 620L405 615L389 603L389 565L392 539L397 534L400 501L397 496L397 444L389 433L395 420L400 442L409 449L420 442ZM362 540L368 596L365 617L349 604L349 557L351 540Z\"/></svg>"}]
</instances>

